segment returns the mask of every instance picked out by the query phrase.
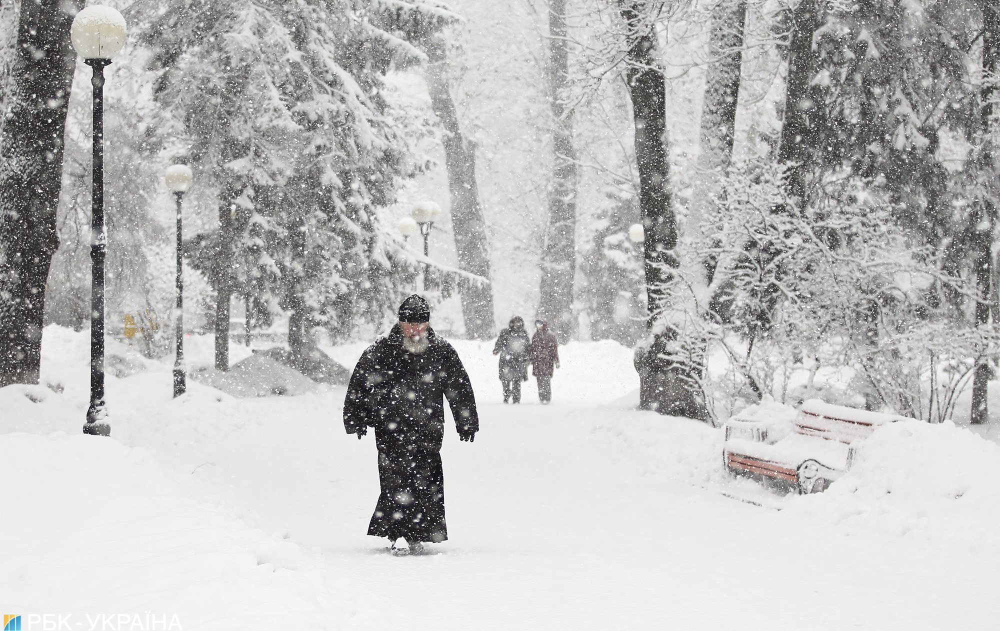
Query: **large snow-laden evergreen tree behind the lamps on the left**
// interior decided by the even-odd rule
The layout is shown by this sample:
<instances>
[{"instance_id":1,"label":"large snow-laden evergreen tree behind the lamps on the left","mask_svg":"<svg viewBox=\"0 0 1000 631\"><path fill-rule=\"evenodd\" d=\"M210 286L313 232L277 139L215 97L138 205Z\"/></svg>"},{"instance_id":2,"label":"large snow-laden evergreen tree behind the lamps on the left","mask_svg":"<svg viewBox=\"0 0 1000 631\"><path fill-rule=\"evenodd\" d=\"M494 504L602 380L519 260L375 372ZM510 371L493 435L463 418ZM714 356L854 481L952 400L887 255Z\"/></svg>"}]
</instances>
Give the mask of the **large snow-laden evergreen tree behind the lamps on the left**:
<instances>
[{"instance_id":1,"label":"large snow-laden evergreen tree behind the lamps on the left","mask_svg":"<svg viewBox=\"0 0 1000 631\"><path fill-rule=\"evenodd\" d=\"M308 330L378 326L408 273L378 217L415 167L382 95L394 59L418 54L370 18L378 2L148 0L130 13L160 72L164 143L218 191L218 232L191 240L219 298L226 368L231 292ZM170 145L173 145L170 147ZM222 348L220 348L222 347Z\"/></svg>"}]
</instances>

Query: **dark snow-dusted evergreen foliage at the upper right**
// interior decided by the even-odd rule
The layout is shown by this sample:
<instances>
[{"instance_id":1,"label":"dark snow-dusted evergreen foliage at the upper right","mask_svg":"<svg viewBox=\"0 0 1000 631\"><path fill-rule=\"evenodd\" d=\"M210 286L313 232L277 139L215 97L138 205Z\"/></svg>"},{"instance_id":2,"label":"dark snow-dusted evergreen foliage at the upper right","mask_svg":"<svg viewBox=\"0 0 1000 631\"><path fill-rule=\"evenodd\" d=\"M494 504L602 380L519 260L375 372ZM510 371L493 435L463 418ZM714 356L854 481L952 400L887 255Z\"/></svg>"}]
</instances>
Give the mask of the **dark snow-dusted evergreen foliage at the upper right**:
<instances>
[{"instance_id":1,"label":"dark snow-dusted evergreen foliage at the upper right","mask_svg":"<svg viewBox=\"0 0 1000 631\"><path fill-rule=\"evenodd\" d=\"M965 0L800 2L779 149L793 195L846 168L891 192L897 220L927 243L954 236L939 151L978 129L970 55L981 25Z\"/></svg>"}]
</instances>

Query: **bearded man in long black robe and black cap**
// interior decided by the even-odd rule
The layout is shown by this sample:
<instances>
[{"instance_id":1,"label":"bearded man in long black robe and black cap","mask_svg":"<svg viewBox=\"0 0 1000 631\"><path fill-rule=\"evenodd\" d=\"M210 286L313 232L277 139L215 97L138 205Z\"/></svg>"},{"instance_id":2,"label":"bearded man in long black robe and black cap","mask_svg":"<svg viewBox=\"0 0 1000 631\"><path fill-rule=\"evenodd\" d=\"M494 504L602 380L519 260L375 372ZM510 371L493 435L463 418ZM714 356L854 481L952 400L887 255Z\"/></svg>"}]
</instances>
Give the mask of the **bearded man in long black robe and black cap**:
<instances>
[{"instance_id":1,"label":"bearded man in long black robe and black cap","mask_svg":"<svg viewBox=\"0 0 1000 631\"><path fill-rule=\"evenodd\" d=\"M344 400L344 427L360 439L375 429L382 492L368 534L388 537L396 555L448 538L444 517L444 399L459 438L479 431L476 399L455 349L430 328L430 305L416 294L399 308L389 336L358 360Z\"/></svg>"}]
</instances>

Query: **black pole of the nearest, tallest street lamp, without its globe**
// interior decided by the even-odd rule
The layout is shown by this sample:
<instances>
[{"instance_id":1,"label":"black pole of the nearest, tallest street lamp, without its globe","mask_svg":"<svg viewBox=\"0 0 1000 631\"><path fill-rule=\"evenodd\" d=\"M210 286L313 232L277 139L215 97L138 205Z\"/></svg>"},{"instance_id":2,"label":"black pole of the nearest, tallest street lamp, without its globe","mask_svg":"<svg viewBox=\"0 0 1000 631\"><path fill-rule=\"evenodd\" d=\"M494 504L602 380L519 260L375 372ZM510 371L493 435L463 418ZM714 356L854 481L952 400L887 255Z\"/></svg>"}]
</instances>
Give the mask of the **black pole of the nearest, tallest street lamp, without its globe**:
<instances>
[{"instance_id":1,"label":"black pole of the nearest, tallest street lamp, without its globe","mask_svg":"<svg viewBox=\"0 0 1000 631\"><path fill-rule=\"evenodd\" d=\"M94 69L93 186L90 225L90 407L84 434L111 435L104 403L104 256L108 236L104 231L104 67L110 59L86 59Z\"/></svg>"}]
</instances>

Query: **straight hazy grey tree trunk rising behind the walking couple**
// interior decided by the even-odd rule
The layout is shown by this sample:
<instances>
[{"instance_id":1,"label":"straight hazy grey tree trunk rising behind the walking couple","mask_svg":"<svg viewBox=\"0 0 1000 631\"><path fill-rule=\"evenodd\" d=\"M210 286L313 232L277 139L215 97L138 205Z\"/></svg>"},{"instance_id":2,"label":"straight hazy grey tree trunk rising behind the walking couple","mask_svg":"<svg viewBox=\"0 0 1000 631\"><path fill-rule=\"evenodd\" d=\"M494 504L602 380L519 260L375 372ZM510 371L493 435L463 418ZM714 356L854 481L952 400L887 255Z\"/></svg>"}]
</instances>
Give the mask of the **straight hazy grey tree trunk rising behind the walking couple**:
<instances>
[{"instance_id":1,"label":"straight hazy grey tree trunk rising behind the walking couple","mask_svg":"<svg viewBox=\"0 0 1000 631\"><path fill-rule=\"evenodd\" d=\"M549 226L542 256L538 317L548 320L560 343L575 330L573 276L576 274L576 151L572 113L566 110L569 85L566 0L549 0L549 91L552 102L554 166L549 187Z\"/></svg>"}]
</instances>

